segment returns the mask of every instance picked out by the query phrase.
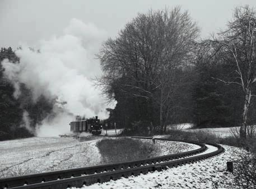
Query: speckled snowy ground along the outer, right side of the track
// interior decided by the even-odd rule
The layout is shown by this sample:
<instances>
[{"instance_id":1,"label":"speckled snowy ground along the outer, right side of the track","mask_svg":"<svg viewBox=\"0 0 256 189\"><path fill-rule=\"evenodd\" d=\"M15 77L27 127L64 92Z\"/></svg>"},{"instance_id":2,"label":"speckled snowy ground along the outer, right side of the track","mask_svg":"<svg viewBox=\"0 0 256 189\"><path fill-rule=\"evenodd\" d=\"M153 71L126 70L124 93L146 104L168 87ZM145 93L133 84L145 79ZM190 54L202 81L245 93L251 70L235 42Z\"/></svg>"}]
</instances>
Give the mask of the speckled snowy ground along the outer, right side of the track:
<instances>
[{"instance_id":1,"label":"speckled snowy ground along the outer, right side of the track","mask_svg":"<svg viewBox=\"0 0 256 189\"><path fill-rule=\"evenodd\" d=\"M204 153L216 150L215 147L208 147ZM226 172L226 162L235 161L234 154L240 149L230 146L224 148L224 153L197 163L82 188L235 188L234 176Z\"/></svg>"}]
</instances>

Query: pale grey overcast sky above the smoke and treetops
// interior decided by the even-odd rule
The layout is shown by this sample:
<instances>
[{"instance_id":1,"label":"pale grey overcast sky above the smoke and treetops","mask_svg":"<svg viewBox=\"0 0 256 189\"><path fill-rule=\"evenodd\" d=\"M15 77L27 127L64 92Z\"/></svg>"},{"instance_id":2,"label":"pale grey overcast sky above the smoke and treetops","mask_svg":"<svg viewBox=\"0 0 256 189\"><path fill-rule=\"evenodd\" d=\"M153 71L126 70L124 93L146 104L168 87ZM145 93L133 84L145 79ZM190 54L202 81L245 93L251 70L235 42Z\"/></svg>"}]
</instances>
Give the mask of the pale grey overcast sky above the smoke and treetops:
<instances>
[{"instance_id":1,"label":"pale grey overcast sky above the smoke and treetops","mask_svg":"<svg viewBox=\"0 0 256 189\"><path fill-rule=\"evenodd\" d=\"M256 7L255 0L0 0L0 44L35 46L39 40L60 35L72 18L94 23L114 37L138 12L177 5L189 10L202 37L207 37L225 27L234 7L242 4Z\"/></svg>"}]
</instances>

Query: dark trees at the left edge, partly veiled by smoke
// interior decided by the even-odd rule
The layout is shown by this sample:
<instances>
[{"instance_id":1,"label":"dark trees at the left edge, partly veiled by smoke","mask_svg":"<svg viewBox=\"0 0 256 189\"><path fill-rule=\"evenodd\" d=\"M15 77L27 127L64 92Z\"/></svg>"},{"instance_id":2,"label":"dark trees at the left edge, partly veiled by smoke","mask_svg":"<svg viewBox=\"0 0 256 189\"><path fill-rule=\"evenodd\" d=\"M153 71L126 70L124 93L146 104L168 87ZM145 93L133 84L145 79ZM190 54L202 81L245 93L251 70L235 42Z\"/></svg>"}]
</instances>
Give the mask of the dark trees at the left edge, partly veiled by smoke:
<instances>
[{"instance_id":1,"label":"dark trees at the left edge, partly veiled by smoke","mask_svg":"<svg viewBox=\"0 0 256 189\"><path fill-rule=\"evenodd\" d=\"M36 124L52 113L54 101L40 96L33 103L32 92L21 84L21 95L15 98L15 88L4 77L2 61L8 59L19 64L20 59L11 47L0 51L0 140L31 137L35 134ZM29 115L29 117L27 117Z\"/></svg>"}]
</instances>

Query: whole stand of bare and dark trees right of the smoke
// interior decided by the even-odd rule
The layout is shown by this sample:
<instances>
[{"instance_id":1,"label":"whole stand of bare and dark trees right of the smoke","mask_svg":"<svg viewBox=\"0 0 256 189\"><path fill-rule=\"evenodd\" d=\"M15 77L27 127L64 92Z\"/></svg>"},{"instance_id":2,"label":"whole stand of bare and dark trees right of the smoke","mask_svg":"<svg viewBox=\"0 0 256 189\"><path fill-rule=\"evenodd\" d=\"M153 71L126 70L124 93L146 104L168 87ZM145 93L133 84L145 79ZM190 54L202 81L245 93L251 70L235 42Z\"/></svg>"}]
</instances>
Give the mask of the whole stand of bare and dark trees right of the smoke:
<instances>
[{"instance_id":1,"label":"whole stand of bare and dark trees right of the smoke","mask_svg":"<svg viewBox=\"0 0 256 189\"><path fill-rule=\"evenodd\" d=\"M201 40L180 7L138 14L97 57L99 84L117 100L110 118L127 130L165 133L169 124L255 127L254 8L235 8L224 31Z\"/></svg>"}]
</instances>

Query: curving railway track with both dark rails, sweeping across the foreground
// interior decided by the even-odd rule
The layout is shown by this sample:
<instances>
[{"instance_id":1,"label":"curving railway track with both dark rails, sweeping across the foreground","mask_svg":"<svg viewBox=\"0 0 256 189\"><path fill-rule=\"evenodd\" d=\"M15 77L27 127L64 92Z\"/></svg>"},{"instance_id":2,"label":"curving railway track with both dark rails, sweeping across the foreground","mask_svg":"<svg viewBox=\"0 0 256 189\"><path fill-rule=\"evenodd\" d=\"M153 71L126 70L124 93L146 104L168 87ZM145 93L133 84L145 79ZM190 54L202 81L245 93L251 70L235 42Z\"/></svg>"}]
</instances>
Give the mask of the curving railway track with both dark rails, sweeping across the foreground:
<instances>
[{"instance_id":1,"label":"curving railway track with both dark rails, sweeping across the foreground","mask_svg":"<svg viewBox=\"0 0 256 189\"><path fill-rule=\"evenodd\" d=\"M148 137L132 137L139 139L152 139ZM154 138L155 140L169 140L164 138ZM170 140L178 142L187 142L198 145L200 148L193 151L170 154L167 156L138 159L136 161L120 162L113 164L104 164L101 166L90 166L74 169L65 169L53 172L44 172L34 175L25 175L19 177L9 177L0 179L0 188L41 188L41 189L58 189L67 187L82 187L97 182L107 182L117 180L120 177L131 175L146 174L151 171L160 171L170 167L181 166L187 163L193 163L202 159L210 158L224 152L218 144L206 143L214 146L217 151L203 153L207 147L203 143L184 140ZM200 154L203 153L203 154Z\"/></svg>"}]
</instances>

